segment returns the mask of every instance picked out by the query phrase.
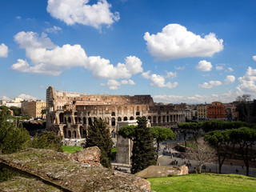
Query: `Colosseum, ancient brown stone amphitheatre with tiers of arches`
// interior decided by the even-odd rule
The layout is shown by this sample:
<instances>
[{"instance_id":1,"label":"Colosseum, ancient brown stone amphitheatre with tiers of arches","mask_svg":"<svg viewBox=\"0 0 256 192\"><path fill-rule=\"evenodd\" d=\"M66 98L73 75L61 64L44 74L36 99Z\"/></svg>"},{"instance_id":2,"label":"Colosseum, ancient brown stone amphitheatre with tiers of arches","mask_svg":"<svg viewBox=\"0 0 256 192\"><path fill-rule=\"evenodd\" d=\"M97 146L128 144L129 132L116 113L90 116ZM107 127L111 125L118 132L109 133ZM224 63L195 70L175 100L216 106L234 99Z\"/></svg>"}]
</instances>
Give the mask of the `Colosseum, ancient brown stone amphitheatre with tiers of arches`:
<instances>
[{"instance_id":1,"label":"Colosseum, ancient brown stone amphitheatre with tiers of arches","mask_svg":"<svg viewBox=\"0 0 256 192\"><path fill-rule=\"evenodd\" d=\"M150 95L78 94L46 90L46 126L64 138L86 138L95 118L104 120L115 137L117 122L145 116L151 126L177 127L185 122L185 104L154 103Z\"/></svg>"}]
</instances>

